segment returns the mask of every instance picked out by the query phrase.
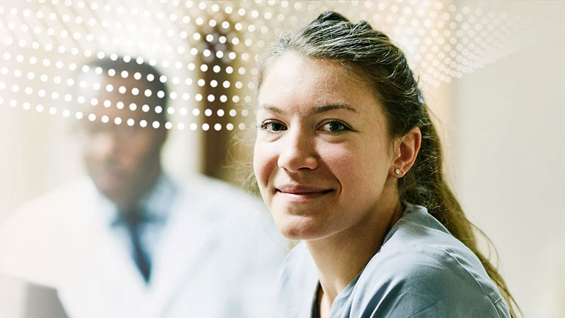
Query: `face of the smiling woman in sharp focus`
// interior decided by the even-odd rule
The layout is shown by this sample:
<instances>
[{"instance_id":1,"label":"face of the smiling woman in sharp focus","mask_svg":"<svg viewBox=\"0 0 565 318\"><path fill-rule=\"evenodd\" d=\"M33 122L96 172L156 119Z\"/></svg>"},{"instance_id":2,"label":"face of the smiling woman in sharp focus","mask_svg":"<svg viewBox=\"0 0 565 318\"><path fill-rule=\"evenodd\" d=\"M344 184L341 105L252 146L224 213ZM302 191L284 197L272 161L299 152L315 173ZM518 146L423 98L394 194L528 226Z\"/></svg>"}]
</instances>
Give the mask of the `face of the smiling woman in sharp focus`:
<instances>
[{"instance_id":1,"label":"face of the smiling woman in sharp focus","mask_svg":"<svg viewBox=\"0 0 565 318\"><path fill-rule=\"evenodd\" d=\"M359 76L284 54L263 78L257 125L254 172L283 235L316 240L379 218L383 190L396 187L391 139Z\"/></svg>"}]
</instances>

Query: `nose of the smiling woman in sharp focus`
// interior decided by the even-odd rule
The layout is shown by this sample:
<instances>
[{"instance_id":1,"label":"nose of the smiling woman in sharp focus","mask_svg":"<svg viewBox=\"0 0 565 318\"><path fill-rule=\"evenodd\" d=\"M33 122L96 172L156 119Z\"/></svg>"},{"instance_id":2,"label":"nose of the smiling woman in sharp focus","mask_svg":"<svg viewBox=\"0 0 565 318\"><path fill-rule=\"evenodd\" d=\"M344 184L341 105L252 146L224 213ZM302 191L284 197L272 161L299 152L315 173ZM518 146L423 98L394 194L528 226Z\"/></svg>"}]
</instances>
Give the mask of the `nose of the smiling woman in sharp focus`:
<instances>
[{"instance_id":1,"label":"nose of the smiling woman in sharp focus","mask_svg":"<svg viewBox=\"0 0 565 318\"><path fill-rule=\"evenodd\" d=\"M301 169L314 170L319 165L318 155L314 147L314 136L300 131L289 131L280 148L278 166L289 172Z\"/></svg>"}]
</instances>

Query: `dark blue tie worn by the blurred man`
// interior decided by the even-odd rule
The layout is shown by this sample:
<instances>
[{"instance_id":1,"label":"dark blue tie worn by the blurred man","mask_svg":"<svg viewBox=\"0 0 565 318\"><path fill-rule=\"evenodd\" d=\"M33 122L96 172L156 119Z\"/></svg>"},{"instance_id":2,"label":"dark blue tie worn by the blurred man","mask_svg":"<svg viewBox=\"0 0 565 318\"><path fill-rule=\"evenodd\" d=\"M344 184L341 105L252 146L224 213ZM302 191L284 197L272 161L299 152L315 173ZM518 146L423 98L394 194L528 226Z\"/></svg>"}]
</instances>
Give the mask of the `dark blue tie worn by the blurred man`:
<instances>
[{"instance_id":1,"label":"dark blue tie worn by the blurred man","mask_svg":"<svg viewBox=\"0 0 565 318\"><path fill-rule=\"evenodd\" d=\"M147 251L143 248L139 235L141 227L147 220L140 216L138 211L130 211L126 214L124 220L131 240L131 247L133 247L133 260L136 262L143 279L145 279L145 283L148 283L151 273L151 260Z\"/></svg>"}]
</instances>

